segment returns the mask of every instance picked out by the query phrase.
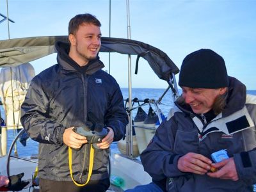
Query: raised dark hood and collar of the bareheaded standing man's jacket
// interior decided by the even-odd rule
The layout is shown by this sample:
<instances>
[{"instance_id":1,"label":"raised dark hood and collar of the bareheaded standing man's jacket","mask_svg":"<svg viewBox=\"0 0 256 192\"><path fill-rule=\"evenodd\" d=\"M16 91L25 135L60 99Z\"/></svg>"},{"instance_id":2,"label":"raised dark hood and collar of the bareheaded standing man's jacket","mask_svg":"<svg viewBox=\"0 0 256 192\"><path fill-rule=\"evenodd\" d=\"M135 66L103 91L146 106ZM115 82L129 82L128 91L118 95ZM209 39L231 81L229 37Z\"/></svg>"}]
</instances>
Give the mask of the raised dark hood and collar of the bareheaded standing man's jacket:
<instances>
[{"instance_id":1,"label":"raised dark hood and collar of the bareheaded standing man's jacket","mask_svg":"<svg viewBox=\"0 0 256 192\"><path fill-rule=\"evenodd\" d=\"M99 56L97 56L95 60L89 61L87 65L81 67L76 63L76 61L72 60L72 58L68 56L68 52L70 51L70 45L68 43L56 42L55 48L58 52L57 62L65 70L78 71L78 72L86 73L90 75L104 67L104 64L102 63L102 61L99 60Z\"/></svg>"}]
</instances>

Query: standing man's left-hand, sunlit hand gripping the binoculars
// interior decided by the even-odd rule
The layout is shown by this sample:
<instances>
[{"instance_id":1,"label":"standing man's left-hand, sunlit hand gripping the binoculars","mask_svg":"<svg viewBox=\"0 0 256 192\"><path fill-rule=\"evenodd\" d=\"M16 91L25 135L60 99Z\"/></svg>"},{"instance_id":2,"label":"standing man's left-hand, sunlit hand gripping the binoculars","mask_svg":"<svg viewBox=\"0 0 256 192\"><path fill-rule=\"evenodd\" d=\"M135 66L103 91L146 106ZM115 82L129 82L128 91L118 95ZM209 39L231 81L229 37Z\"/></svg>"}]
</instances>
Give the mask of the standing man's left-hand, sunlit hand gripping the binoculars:
<instances>
[{"instance_id":1,"label":"standing man's left-hand, sunlit hand gripping the binoculars","mask_svg":"<svg viewBox=\"0 0 256 192\"><path fill-rule=\"evenodd\" d=\"M68 147L80 148L83 144L87 143L86 137L81 136L74 132L72 129L74 127L69 127L65 129L63 133L63 142Z\"/></svg>"}]
</instances>

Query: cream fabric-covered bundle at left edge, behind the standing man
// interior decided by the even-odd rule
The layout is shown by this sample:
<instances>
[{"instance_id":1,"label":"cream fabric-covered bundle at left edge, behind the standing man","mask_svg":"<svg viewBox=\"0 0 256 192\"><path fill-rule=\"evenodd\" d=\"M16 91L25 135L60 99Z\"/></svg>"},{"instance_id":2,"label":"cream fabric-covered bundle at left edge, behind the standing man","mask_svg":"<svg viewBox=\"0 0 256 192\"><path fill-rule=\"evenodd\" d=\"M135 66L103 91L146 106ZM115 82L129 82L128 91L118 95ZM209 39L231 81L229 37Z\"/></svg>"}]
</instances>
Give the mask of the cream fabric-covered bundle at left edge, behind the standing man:
<instances>
[{"instance_id":1,"label":"cream fabric-covered bundle at left edge, behind the standing man","mask_svg":"<svg viewBox=\"0 0 256 192\"><path fill-rule=\"evenodd\" d=\"M30 63L17 67L4 67L0 72L0 97L3 102L5 123L8 129L22 128L20 105L25 99L35 70ZM14 115L14 116L13 116Z\"/></svg>"}]
</instances>

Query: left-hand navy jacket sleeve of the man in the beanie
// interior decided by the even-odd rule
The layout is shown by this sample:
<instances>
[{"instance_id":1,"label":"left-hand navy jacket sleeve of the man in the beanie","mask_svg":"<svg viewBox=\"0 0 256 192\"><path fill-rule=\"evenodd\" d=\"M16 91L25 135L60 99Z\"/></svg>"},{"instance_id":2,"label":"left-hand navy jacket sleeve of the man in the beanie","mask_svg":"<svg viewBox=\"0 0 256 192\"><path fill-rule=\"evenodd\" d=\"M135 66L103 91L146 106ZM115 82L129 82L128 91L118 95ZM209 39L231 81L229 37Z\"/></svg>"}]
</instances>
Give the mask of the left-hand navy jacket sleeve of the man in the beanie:
<instances>
[{"instance_id":1,"label":"left-hand navy jacket sleeve of the man in the beanie","mask_svg":"<svg viewBox=\"0 0 256 192\"><path fill-rule=\"evenodd\" d=\"M176 129L177 125L172 118L162 122L152 141L140 155L144 170L154 180L186 174L177 168L180 156L173 153Z\"/></svg>"}]
</instances>

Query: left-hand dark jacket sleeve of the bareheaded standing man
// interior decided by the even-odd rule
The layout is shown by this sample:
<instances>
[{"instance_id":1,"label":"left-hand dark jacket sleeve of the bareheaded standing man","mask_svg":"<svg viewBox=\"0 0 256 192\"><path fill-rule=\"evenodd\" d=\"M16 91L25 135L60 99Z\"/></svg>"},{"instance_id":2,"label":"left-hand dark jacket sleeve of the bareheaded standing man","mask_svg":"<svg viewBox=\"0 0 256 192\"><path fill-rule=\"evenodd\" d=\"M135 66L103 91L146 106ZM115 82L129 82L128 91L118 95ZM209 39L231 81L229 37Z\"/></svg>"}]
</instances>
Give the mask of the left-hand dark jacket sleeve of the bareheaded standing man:
<instances>
[{"instance_id":1,"label":"left-hand dark jacket sleeve of the bareheaded standing man","mask_svg":"<svg viewBox=\"0 0 256 192\"><path fill-rule=\"evenodd\" d=\"M31 81L21 106L20 122L32 140L40 143L63 143L65 127L49 118L49 95L40 77Z\"/></svg>"}]
</instances>

